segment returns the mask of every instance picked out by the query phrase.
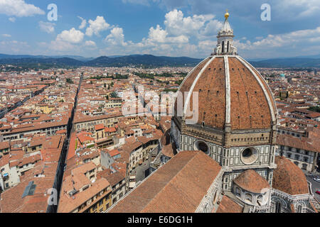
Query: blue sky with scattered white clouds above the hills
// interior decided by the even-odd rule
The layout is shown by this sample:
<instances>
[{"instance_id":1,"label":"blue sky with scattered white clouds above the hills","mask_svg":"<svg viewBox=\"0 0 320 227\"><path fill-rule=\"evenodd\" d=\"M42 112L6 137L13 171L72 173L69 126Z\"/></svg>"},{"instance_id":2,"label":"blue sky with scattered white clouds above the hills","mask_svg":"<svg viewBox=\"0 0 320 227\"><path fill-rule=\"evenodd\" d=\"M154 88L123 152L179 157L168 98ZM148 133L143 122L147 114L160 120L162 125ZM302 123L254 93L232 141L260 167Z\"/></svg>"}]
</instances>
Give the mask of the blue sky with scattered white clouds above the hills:
<instances>
[{"instance_id":1,"label":"blue sky with scattered white clouds above the hills","mask_svg":"<svg viewBox=\"0 0 320 227\"><path fill-rule=\"evenodd\" d=\"M262 21L263 4L270 21ZM242 57L320 54L319 0L0 0L0 53L203 58L226 9Z\"/></svg>"}]
</instances>

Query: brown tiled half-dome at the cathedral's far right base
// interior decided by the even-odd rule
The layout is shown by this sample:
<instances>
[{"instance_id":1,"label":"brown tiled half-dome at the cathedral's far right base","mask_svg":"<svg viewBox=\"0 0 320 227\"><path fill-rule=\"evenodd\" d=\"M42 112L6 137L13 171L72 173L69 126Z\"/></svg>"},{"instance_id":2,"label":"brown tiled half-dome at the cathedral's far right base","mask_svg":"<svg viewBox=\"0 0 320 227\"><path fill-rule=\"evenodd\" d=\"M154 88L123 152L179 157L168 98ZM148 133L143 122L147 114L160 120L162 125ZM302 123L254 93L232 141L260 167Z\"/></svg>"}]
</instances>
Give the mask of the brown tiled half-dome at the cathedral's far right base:
<instances>
[{"instance_id":1,"label":"brown tiled half-dome at the cathedral's far right base","mask_svg":"<svg viewBox=\"0 0 320 227\"><path fill-rule=\"evenodd\" d=\"M287 194L309 194L306 176L302 170L285 157L275 158L277 169L273 172L272 187Z\"/></svg>"}]
</instances>

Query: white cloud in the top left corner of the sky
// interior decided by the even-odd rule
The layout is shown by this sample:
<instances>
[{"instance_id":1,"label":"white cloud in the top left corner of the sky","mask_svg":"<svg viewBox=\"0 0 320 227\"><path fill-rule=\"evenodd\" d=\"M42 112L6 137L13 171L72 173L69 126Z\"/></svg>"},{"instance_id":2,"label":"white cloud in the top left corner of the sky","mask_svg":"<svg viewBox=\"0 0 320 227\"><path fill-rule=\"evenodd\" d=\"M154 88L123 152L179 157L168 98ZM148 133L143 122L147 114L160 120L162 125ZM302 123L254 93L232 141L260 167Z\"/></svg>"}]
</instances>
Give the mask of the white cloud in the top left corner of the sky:
<instances>
[{"instance_id":1,"label":"white cloud in the top left corner of the sky","mask_svg":"<svg viewBox=\"0 0 320 227\"><path fill-rule=\"evenodd\" d=\"M0 13L17 17L45 14L42 9L33 4L26 4L24 0L0 0Z\"/></svg>"}]
</instances>

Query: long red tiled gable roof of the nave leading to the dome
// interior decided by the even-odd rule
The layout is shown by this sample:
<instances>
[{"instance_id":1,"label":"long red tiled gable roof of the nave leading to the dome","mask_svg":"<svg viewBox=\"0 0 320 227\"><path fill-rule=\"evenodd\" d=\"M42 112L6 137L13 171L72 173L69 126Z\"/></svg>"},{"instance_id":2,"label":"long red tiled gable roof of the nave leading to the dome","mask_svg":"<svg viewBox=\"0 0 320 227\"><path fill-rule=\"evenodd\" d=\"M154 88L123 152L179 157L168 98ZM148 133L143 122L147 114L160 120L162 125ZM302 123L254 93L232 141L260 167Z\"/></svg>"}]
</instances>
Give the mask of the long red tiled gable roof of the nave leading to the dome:
<instances>
[{"instance_id":1,"label":"long red tiled gable roof of the nave leading to the dome","mask_svg":"<svg viewBox=\"0 0 320 227\"><path fill-rule=\"evenodd\" d=\"M200 151L181 151L110 212L194 212L220 170L217 162Z\"/></svg>"}]
</instances>

